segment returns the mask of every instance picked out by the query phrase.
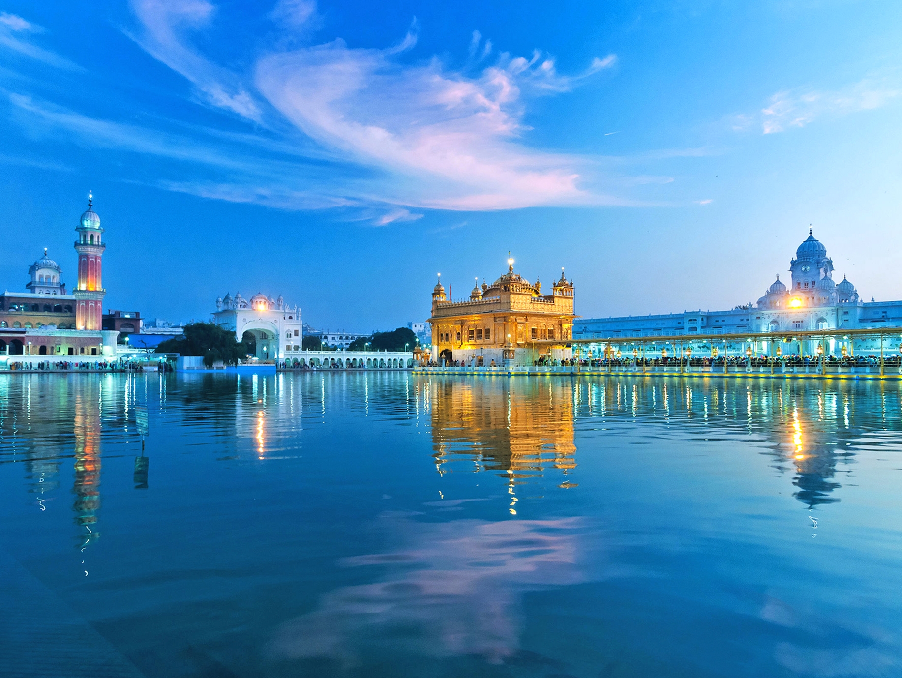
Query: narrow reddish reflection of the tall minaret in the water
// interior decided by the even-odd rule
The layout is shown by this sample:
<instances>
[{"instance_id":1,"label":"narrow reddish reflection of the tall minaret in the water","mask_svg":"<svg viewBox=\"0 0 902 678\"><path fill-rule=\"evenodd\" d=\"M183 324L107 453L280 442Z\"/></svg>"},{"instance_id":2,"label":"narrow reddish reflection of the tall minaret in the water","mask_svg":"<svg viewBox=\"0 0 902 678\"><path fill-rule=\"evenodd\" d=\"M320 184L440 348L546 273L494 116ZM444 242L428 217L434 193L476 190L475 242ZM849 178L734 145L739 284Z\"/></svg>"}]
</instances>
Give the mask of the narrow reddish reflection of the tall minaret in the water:
<instances>
[{"instance_id":1,"label":"narrow reddish reflection of the tall minaret in the water","mask_svg":"<svg viewBox=\"0 0 902 678\"><path fill-rule=\"evenodd\" d=\"M72 510L75 522L86 527L86 539L97 539L97 510L100 509L100 411L97 382L85 381L75 395L75 484ZM86 542L87 544L87 542Z\"/></svg>"}]
</instances>

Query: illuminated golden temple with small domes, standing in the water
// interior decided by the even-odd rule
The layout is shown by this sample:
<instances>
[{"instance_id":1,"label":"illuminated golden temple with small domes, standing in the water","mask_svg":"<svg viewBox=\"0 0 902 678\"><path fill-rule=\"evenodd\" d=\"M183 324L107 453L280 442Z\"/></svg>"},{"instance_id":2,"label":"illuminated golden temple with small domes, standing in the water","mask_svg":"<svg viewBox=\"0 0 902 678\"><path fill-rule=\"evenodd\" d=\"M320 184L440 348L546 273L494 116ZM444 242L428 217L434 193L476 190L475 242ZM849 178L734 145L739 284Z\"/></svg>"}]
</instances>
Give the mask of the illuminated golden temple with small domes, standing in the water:
<instances>
[{"instance_id":1,"label":"illuminated golden temple with small domes, standing in the water","mask_svg":"<svg viewBox=\"0 0 902 678\"><path fill-rule=\"evenodd\" d=\"M432 360L475 365L525 365L542 355L570 356L573 331L573 282L561 277L551 294L542 284L508 271L492 285L483 281L470 298L446 298L441 279L432 291Z\"/></svg>"}]
</instances>

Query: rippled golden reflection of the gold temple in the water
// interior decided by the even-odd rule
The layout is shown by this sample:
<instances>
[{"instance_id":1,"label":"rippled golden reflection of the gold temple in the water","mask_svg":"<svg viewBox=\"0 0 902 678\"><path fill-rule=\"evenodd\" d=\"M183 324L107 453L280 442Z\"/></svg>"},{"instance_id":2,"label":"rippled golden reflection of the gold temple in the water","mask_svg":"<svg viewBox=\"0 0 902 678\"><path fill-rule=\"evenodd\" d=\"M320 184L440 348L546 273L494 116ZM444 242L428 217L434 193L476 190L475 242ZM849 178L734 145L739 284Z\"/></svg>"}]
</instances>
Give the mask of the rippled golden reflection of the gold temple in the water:
<instances>
[{"instance_id":1,"label":"rippled golden reflection of the gold temple in the water","mask_svg":"<svg viewBox=\"0 0 902 678\"><path fill-rule=\"evenodd\" d=\"M438 380L432 400L439 465L464 454L477 467L506 472L511 485L548 467L576 466L573 388L556 381Z\"/></svg>"}]
</instances>

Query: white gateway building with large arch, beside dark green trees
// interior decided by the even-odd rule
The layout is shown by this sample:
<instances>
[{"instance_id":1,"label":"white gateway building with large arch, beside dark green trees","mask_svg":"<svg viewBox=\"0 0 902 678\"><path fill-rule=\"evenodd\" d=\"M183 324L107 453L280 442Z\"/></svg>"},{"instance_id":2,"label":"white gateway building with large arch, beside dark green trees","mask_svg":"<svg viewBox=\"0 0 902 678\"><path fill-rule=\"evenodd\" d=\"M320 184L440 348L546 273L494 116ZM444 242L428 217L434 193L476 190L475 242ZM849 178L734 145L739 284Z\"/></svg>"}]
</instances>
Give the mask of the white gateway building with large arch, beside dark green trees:
<instances>
[{"instance_id":1,"label":"white gateway building with large arch, beside dark green trees","mask_svg":"<svg viewBox=\"0 0 902 678\"><path fill-rule=\"evenodd\" d=\"M299 307L291 307L281 297L255 294L250 300L241 294L216 299L216 325L235 332L235 339L247 339L256 346L260 360L285 360L300 351L303 337Z\"/></svg>"}]
</instances>

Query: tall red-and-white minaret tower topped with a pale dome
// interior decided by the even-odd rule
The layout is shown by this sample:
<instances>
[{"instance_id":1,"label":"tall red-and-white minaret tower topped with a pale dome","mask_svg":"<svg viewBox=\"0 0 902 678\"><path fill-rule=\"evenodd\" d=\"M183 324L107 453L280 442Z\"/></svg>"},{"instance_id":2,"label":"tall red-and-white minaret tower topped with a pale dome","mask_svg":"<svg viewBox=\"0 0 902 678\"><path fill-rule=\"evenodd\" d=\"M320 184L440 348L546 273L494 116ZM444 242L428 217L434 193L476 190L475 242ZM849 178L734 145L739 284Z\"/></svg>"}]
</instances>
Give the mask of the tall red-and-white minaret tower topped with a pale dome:
<instances>
[{"instance_id":1,"label":"tall red-and-white minaret tower topped with a pale dome","mask_svg":"<svg viewBox=\"0 0 902 678\"><path fill-rule=\"evenodd\" d=\"M87 195L87 212L81 215L76 227L78 240L78 284L72 291L75 296L75 326L79 330L99 332L103 329L104 296L106 289L100 282L100 258L106 245L100 242L100 217L91 207L93 196Z\"/></svg>"}]
</instances>

